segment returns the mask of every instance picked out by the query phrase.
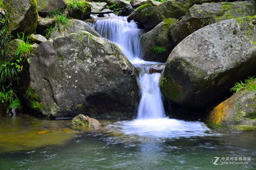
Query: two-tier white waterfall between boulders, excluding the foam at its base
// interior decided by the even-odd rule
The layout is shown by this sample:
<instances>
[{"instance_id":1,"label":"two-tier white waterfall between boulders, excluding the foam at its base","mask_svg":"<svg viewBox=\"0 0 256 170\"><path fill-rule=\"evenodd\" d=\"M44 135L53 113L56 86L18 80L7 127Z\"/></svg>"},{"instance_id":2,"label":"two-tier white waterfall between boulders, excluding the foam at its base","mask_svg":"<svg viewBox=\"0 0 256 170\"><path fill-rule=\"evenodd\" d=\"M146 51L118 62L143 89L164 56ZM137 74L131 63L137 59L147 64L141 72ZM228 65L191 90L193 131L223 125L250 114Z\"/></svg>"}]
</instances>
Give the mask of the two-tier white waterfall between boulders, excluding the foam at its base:
<instances>
[{"instance_id":1,"label":"two-tier white waterfall between boulders, excluding the foam at its base","mask_svg":"<svg viewBox=\"0 0 256 170\"><path fill-rule=\"evenodd\" d=\"M159 90L159 73L149 73L150 64L141 59L141 29L137 28L134 21L128 23L126 17L110 17L96 20L93 24L102 37L115 42L124 55L141 70L138 84L141 89L141 101L139 103L137 119L162 118L164 106Z\"/></svg>"}]
</instances>

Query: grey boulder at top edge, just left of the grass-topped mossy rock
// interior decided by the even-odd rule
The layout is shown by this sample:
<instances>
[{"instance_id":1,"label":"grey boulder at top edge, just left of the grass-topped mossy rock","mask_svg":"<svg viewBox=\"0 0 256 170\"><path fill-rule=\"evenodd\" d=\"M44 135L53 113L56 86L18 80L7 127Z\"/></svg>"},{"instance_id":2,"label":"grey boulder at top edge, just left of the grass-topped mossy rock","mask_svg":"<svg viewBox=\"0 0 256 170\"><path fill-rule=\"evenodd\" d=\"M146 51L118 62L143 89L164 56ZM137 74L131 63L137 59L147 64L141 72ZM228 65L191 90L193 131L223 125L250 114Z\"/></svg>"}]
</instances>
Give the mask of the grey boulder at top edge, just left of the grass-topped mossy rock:
<instances>
[{"instance_id":1,"label":"grey boulder at top edge, just left of the grass-topped mossy rock","mask_svg":"<svg viewBox=\"0 0 256 170\"><path fill-rule=\"evenodd\" d=\"M38 0L38 14L46 16L52 11L60 11L66 7L65 0Z\"/></svg>"}]
</instances>

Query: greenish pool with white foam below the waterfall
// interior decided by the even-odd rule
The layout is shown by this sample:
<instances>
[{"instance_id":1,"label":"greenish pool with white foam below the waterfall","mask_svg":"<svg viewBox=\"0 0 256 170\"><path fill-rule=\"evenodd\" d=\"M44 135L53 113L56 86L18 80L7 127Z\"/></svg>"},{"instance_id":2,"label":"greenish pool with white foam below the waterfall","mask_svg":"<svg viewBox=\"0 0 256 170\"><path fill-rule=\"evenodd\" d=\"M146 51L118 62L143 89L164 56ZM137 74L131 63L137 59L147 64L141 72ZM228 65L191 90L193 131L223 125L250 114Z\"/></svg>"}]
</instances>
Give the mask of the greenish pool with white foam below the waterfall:
<instances>
[{"instance_id":1,"label":"greenish pool with white foam below the waterfall","mask_svg":"<svg viewBox=\"0 0 256 170\"><path fill-rule=\"evenodd\" d=\"M200 122L168 119L104 122L99 131L77 129L70 120L0 120L1 170L256 169L255 132L220 134ZM237 160L222 165L227 157Z\"/></svg>"}]
</instances>

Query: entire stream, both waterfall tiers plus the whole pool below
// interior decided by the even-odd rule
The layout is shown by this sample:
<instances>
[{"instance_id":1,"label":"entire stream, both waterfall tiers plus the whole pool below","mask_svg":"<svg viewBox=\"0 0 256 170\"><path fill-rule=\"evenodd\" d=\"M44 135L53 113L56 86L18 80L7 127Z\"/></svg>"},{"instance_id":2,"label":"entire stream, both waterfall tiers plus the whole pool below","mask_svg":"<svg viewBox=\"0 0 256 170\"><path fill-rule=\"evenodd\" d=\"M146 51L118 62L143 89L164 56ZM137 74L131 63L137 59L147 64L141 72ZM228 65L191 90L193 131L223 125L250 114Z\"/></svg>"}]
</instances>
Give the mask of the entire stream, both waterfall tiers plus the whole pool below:
<instances>
[{"instance_id":1,"label":"entire stream, both waterfall tiers plus the whole pool below","mask_svg":"<svg viewBox=\"0 0 256 170\"><path fill-rule=\"evenodd\" d=\"M150 73L159 63L141 59L143 31L135 22L110 17L92 26L140 70L136 119L102 120L105 129L90 131L70 120L0 117L0 170L256 169L255 132L220 134L165 115L160 73Z\"/></svg>"}]
</instances>

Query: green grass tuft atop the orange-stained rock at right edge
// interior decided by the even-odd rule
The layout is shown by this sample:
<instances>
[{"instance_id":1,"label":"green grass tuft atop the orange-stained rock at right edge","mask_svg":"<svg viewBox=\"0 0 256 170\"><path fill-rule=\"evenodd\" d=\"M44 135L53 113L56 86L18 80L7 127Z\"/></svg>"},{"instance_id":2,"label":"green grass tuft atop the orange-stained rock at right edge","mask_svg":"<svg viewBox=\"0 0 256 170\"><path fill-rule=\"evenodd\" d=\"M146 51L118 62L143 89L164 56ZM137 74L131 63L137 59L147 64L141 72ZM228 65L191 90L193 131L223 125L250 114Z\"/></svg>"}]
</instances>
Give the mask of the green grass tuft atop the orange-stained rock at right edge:
<instances>
[{"instance_id":1,"label":"green grass tuft atop the orange-stained rock at right edge","mask_svg":"<svg viewBox=\"0 0 256 170\"><path fill-rule=\"evenodd\" d=\"M256 79L253 76L249 76L244 82L236 82L236 84L231 88L231 91L237 93L245 88L250 90L256 89Z\"/></svg>"}]
</instances>

